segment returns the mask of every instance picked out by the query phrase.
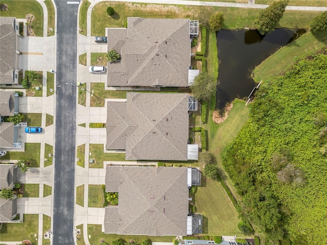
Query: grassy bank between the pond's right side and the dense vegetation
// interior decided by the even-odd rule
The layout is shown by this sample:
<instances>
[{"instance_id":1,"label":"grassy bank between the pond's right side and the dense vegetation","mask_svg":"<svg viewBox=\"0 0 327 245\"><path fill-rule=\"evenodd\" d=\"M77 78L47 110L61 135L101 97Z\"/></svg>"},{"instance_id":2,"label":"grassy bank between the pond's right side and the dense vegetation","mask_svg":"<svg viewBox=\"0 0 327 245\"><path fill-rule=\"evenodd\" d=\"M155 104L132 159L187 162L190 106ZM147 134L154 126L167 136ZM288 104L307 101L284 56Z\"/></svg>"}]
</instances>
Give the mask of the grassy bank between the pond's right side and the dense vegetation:
<instances>
[{"instance_id":1,"label":"grassy bank between the pond's right side and the dense vegetation","mask_svg":"<svg viewBox=\"0 0 327 245\"><path fill-rule=\"evenodd\" d=\"M321 32L316 36L311 32L303 34L297 40L282 47L259 66L255 67L253 79L257 83L261 80L267 81L291 65L295 61L295 57L301 57L315 52L326 45L327 32Z\"/></svg>"}]
</instances>

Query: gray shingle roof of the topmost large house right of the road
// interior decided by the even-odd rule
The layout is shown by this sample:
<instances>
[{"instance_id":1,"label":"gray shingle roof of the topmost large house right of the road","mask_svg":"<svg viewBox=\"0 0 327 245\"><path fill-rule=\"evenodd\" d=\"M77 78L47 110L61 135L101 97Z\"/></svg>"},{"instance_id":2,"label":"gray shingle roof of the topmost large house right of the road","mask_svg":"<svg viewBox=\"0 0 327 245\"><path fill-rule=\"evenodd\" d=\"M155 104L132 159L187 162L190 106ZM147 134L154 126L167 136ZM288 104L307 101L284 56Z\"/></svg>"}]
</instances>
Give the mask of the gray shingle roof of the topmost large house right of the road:
<instances>
[{"instance_id":1,"label":"gray shingle roof of the topmost large house right of the road","mask_svg":"<svg viewBox=\"0 0 327 245\"><path fill-rule=\"evenodd\" d=\"M108 28L108 51L121 61L108 64L108 86L189 86L189 19L128 17L128 28Z\"/></svg>"}]
</instances>

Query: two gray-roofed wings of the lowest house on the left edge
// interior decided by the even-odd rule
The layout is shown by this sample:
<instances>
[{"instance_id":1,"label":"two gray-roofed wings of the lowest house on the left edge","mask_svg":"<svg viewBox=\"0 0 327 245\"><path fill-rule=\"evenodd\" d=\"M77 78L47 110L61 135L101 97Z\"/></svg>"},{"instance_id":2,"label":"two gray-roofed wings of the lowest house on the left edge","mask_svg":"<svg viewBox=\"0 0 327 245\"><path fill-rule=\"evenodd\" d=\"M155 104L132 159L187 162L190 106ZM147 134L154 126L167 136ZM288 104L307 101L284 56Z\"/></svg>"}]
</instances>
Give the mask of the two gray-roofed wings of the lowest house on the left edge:
<instances>
[{"instance_id":1,"label":"two gray-roofed wings of the lowest house on the left edge","mask_svg":"<svg viewBox=\"0 0 327 245\"><path fill-rule=\"evenodd\" d=\"M17 183L17 166L13 164L0 164L0 190L13 189ZM0 198L0 223L11 222L17 215L17 198Z\"/></svg>"}]
</instances>

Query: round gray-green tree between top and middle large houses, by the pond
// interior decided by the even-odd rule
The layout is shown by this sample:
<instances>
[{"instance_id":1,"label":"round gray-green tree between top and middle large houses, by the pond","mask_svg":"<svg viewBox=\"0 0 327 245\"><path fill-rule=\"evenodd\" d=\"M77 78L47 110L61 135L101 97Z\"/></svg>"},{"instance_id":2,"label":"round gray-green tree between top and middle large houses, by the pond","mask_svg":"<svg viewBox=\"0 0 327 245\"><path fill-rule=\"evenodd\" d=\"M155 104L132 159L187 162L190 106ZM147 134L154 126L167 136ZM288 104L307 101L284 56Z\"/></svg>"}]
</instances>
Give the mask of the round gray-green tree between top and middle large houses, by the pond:
<instances>
[{"instance_id":1,"label":"round gray-green tree between top and middle large houses, by the pond","mask_svg":"<svg viewBox=\"0 0 327 245\"><path fill-rule=\"evenodd\" d=\"M207 72L201 72L194 79L191 91L200 101L208 101L216 92L217 81Z\"/></svg>"}]
</instances>

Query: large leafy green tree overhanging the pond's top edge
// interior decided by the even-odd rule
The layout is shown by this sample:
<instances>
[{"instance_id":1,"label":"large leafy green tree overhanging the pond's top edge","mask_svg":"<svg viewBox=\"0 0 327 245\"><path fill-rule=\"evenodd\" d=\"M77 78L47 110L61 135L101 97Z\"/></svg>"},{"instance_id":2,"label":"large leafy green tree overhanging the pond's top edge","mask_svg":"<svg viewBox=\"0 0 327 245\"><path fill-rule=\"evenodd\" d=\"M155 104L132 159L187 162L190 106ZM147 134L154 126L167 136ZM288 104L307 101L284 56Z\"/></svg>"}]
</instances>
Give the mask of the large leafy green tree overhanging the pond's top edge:
<instances>
[{"instance_id":1,"label":"large leafy green tree overhanging the pond's top edge","mask_svg":"<svg viewBox=\"0 0 327 245\"><path fill-rule=\"evenodd\" d=\"M261 35L271 33L275 29L277 22L283 17L288 2L289 0L275 1L260 12L258 18L254 20L254 26Z\"/></svg>"}]
</instances>

